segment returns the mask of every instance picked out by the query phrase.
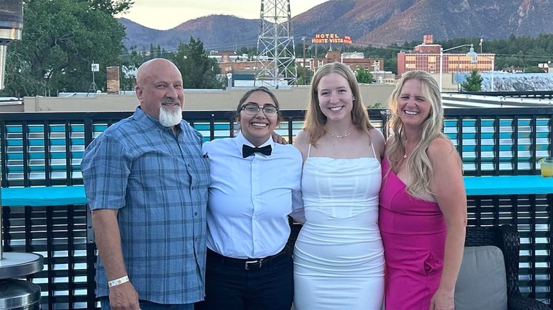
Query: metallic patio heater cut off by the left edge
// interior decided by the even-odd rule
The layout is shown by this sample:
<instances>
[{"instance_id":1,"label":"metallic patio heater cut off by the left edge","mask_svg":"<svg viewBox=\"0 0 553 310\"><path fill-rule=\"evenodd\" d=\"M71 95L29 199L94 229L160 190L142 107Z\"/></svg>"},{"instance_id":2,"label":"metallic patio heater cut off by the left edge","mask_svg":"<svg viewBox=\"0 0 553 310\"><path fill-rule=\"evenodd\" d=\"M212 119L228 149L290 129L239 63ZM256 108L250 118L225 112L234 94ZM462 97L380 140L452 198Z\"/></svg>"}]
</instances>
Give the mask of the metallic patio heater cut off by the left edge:
<instances>
[{"instance_id":1,"label":"metallic patio heater cut off by the left edge","mask_svg":"<svg viewBox=\"0 0 553 310\"><path fill-rule=\"evenodd\" d=\"M22 29L22 0L0 0L0 90L4 88L7 47L11 42L21 40ZM43 256L34 253L3 253L1 223L0 199L0 309L40 309L40 287L17 279L43 270Z\"/></svg>"}]
</instances>

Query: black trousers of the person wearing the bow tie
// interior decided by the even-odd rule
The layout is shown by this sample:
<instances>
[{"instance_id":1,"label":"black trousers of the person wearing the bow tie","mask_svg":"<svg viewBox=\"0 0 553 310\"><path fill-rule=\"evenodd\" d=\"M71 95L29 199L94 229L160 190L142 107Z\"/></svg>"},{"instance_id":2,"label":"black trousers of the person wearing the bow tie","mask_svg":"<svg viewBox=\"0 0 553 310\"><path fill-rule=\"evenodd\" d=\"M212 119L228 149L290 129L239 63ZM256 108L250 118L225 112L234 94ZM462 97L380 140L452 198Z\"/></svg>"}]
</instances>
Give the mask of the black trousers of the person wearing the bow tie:
<instances>
[{"instance_id":1,"label":"black trousers of the person wearing the bow tie","mask_svg":"<svg viewBox=\"0 0 553 310\"><path fill-rule=\"evenodd\" d=\"M246 263L208 249L206 300L196 310L290 310L293 299L294 263L286 251Z\"/></svg>"}]
</instances>

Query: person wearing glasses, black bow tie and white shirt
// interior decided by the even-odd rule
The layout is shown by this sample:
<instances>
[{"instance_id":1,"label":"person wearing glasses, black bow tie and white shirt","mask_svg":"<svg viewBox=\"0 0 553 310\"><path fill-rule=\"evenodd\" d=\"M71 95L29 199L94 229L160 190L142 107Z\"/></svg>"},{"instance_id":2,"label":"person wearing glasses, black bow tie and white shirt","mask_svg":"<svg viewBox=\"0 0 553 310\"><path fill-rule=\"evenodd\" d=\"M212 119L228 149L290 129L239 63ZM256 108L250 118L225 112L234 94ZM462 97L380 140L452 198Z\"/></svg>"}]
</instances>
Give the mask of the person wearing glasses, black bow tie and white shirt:
<instances>
[{"instance_id":1,"label":"person wearing glasses, black bow tie and white shirt","mask_svg":"<svg viewBox=\"0 0 553 310\"><path fill-rule=\"evenodd\" d=\"M288 216L301 214L301 154L276 144L279 102L265 87L240 100L237 137L203 144L210 159L205 309L290 310ZM201 308L203 309L203 308Z\"/></svg>"}]
</instances>

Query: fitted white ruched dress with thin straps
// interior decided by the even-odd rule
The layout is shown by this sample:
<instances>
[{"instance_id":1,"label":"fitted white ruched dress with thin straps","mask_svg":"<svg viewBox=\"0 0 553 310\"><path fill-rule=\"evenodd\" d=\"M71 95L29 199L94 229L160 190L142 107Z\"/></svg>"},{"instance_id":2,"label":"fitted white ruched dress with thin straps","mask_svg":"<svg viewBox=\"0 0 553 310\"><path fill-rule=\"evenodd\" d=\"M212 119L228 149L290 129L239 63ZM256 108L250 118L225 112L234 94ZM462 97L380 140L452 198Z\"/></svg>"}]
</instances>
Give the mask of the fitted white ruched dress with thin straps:
<instances>
[{"instance_id":1,"label":"fitted white ruched dress with thin straps","mask_svg":"<svg viewBox=\"0 0 553 310\"><path fill-rule=\"evenodd\" d=\"M370 157L308 157L306 223L294 248L296 310L380 310L384 248L378 226L381 166Z\"/></svg>"}]
</instances>

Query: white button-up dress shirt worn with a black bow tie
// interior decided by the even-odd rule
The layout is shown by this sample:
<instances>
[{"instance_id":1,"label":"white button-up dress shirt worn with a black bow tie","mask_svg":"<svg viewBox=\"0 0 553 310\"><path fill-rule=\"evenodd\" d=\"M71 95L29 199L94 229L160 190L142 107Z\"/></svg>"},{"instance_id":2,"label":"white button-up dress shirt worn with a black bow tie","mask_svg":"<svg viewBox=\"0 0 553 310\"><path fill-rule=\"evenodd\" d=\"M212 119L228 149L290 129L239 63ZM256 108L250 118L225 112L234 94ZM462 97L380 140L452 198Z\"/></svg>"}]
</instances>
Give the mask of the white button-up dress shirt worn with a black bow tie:
<instances>
[{"instance_id":1,"label":"white button-up dress shirt worn with a black bow tie","mask_svg":"<svg viewBox=\"0 0 553 310\"><path fill-rule=\"evenodd\" d=\"M242 158L242 133L203 144L210 160L207 246L231 258L264 258L279 253L290 235L287 216L301 212L301 153L275 144L272 154Z\"/></svg>"}]
</instances>

